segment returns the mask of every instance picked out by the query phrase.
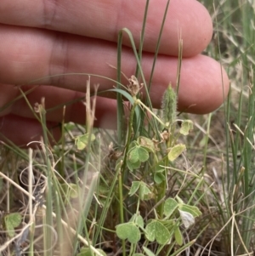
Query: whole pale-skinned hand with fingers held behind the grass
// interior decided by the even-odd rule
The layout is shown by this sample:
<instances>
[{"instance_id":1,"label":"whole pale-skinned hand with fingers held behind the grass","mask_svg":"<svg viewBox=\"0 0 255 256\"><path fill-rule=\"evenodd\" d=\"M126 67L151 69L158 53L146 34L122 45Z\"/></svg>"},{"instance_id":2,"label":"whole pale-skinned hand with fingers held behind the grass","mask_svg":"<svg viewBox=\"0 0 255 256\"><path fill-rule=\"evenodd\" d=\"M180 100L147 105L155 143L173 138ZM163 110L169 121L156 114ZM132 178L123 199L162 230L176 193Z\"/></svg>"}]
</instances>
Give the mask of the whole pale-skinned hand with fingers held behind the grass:
<instances>
[{"instance_id":1,"label":"whole pale-skinned hand with fingers held behind the grass","mask_svg":"<svg viewBox=\"0 0 255 256\"><path fill-rule=\"evenodd\" d=\"M20 90L37 86L28 100L31 105L45 98L52 108L84 96L86 76L54 74L92 73L116 79L116 41L120 29L127 27L139 45L145 0L33 1L1 0L0 3L0 108L14 100ZM149 79L161 18L167 1L150 1L144 38L143 71ZM203 114L224 102L229 79L217 61L201 52L212 38L212 20L195 0L171 0L161 48L156 62L150 98L160 107L169 82L175 86L178 64L178 37L184 42L178 94L178 110ZM123 39L122 72L131 77L136 63L127 36ZM39 82L30 83L42 78ZM125 78L123 84L127 84ZM114 82L91 77L99 91L113 88ZM24 86L25 85L25 86ZM40 85L40 86L38 86ZM94 87L91 87L92 92ZM114 97L114 95L106 95ZM116 100L97 99L95 125L116 128ZM63 120L63 109L47 114L48 127ZM66 106L65 122L85 122L82 102ZM25 100L18 100L0 112L0 140L3 134L17 145L39 139L42 128ZM59 129L54 129L59 138Z\"/></svg>"}]
</instances>

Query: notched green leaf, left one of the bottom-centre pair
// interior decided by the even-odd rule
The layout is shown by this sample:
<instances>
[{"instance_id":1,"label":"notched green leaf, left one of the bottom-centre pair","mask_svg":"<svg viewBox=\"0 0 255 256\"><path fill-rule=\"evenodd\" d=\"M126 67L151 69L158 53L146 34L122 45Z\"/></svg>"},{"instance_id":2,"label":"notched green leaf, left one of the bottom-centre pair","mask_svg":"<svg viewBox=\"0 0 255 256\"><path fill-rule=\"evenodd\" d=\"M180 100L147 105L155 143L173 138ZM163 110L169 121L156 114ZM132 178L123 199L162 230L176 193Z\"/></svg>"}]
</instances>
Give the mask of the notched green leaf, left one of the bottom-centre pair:
<instances>
[{"instance_id":1,"label":"notched green leaf, left one of the bottom-centre pair","mask_svg":"<svg viewBox=\"0 0 255 256\"><path fill-rule=\"evenodd\" d=\"M120 239L127 239L131 243L137 243L141 239L140 230L133 222L116 225L116 235Z\"/></svg>"}]
</instances>

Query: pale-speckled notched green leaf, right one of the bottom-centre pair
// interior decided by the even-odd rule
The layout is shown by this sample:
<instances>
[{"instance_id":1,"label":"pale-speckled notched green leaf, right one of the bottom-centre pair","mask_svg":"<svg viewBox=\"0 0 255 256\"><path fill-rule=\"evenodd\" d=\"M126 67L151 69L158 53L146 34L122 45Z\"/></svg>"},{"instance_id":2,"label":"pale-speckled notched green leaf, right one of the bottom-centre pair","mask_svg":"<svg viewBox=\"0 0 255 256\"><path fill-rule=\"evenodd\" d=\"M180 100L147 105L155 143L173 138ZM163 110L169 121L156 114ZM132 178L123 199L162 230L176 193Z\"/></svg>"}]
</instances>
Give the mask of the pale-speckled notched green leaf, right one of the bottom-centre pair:
<instances>
[{"instance_id":1,"label":"pale-speckled notched green leaf, right one of the bottom-centre pair","mask_svg":"<svg viewBox=\"0 0 255 256\"><path fill-rule=\"evenodd\" d=\"M153 219L150 224L146 225L145 231L145 236L150 242L156 240L160 245L167 244L171 238L167 228L156 219Z\"/></svg>"}]
</instances>

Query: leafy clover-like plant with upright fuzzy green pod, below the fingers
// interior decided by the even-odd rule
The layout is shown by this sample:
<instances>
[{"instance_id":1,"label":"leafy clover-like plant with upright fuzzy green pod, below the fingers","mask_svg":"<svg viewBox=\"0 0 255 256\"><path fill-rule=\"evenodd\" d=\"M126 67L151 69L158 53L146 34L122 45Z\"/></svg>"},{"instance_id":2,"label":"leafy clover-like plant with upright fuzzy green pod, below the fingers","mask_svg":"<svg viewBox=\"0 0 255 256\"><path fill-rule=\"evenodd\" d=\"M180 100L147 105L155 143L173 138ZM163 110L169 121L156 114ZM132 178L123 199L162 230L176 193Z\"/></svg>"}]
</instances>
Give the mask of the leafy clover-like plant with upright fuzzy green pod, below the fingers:
<instances>
[{"instance_id":1,"label":"leafy clover-like plant with upright fuzzy green pod, below the fingers","mask_svg":"<svg viewBox=\"0 0 255 256\"><path fill-rule=\"evenodd\" d=\"M186 150L184 144L178 143L178 138L189 134L193 122L177 119L177 94L171 84L163 95L160 117L139 100L143 84L134 76L128 80L127 90L133 100L126 146L122 154L119 153L115 167L118 180L116 210L120 218L116 236L122 240L123 255L127 250L133 256L151 256L161 252L174 255L195 242L184 242L183 233L201 215L199 208L185 203L178 195L166 197L169 167ZM150 132L148 136L140 135L135 130L134 123L139 123L139 111L149 113L148 122L153 120L158 124L161 129L159 138L151 137L153 133ZM177 122L180 122L180 128L177 128ZM150 213L143 213L142 205L147 202L150 205L154 203L154 206ZM130 204L134 207L129 208ZM125 221L127 215L129 219ZM156 249L152 251L152 248Z\"/></svg>"}]
</instances>

